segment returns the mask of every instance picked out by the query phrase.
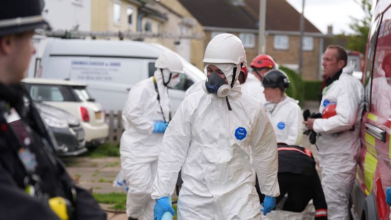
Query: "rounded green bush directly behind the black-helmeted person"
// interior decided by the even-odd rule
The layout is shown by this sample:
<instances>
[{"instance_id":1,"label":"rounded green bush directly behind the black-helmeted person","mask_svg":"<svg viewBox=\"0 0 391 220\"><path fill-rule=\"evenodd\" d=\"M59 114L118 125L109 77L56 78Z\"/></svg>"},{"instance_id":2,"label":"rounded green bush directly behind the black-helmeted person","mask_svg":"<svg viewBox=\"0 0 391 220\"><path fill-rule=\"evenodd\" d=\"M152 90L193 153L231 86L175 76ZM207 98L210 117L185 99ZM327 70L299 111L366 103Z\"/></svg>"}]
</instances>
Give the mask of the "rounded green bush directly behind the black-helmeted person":
<instances>
[{"instance_id":1,"label":"rounded green bush directly behind the black-helmeted person","mask_svg":"<svg viewBox=\"0 0 391 220\"><path fill-rule=\"evenodd\" d=\"M289 97L292 97L299 101L300 107L304 106L304 82L301 78L301 76L284 66L280 66L280 69L284 71L287 75L291 83L289 84L288 89L286 90L286 93Z\"/></svg>"}]
</instances>

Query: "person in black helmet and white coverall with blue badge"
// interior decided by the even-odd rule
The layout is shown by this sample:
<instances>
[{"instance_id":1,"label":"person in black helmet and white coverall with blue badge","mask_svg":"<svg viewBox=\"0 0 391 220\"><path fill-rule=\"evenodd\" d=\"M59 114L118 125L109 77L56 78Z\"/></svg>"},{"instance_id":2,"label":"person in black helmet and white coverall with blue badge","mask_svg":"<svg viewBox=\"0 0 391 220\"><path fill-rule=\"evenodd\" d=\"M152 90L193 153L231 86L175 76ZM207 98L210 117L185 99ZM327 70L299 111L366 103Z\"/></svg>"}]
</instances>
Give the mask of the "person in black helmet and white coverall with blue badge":
<instances>
[{"instance_id":1,"label":"person in black helmet and white coverall with blue badge","mask_svg":"<svg viewBox=\"0 0 391 220\"><path fill-rule=\"evenodd\" d=\"M264 104L278 144L300 145L303 136L303 114L298 101L285 90L289 78L282 70L270 70L262 79L267 103Z\"/></svg>"}]
</instances>

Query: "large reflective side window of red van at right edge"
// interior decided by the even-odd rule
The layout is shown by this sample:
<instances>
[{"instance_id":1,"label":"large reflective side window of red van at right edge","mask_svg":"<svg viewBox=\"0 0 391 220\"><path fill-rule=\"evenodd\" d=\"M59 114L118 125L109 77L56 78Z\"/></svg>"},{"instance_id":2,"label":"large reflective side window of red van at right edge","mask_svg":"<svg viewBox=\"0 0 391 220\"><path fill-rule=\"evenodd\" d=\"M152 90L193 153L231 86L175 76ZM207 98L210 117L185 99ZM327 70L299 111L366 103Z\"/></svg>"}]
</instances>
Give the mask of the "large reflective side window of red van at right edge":
<instances>
[{"instance_id":1,"label":"large reflective side window of red van at right edge","mask_svg":"<svg viewBox=\"0 0 391 220\"><path fill-rule=\"evenodd\" d=\"M391 10L383 14L372 73L371 112L391 117Z\"/></svg>"}]
</instances>

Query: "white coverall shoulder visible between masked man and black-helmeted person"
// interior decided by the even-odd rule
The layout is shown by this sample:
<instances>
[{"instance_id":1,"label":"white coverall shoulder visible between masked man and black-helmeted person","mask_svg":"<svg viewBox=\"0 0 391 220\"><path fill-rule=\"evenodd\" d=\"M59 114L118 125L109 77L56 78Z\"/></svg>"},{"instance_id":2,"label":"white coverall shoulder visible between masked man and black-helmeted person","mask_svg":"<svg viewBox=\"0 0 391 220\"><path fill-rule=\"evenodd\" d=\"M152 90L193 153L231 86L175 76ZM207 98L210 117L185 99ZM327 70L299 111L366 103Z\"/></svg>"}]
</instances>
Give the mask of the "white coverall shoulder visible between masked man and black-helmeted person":
<instances>
[{"instance_id":1,"label":"white coverall shoulder visible between masked man and black-helmeted person","mask_svg":"<svg viewBox=\"0 0 391 220\"><path fill-rule=\"evenodd\" d=\"M240 87L244 94L253 96L263 104L266 103L265 94L263 93L265 88L263 87L262 82L255 77L254 74L248 73L246 81L244 84L241 84Z\"/></svg>"}]
</instances>

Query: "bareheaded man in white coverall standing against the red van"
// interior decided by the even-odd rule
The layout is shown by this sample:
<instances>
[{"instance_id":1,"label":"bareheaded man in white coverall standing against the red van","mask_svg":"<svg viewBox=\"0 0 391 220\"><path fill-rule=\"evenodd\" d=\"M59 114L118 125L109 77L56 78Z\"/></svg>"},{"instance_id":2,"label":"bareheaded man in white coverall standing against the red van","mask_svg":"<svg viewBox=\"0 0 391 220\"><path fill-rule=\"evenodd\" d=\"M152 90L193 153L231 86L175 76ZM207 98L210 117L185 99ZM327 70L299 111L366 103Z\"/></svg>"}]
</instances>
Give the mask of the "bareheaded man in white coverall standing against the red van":
<instances>
[{"instance_id":1,"label":"bareheaded man in white coverall standing against the red van","mask_svg":"<svg viewBox=\"0 0 391 220\"><path fill-rule=\"evenodd\" d=\"M346 66L344 48L330 45L323 54L323 89L319 111L336 104L336 115L304 122L318 133L317 158L322 168L328 219L348 219L349 194L356 176L360 149L360 119L364 107L364 88L353 75L354 66ZM346 66L346 67L345 67ZM345 68L344 68L345 67Z\"/></svg>"}]
</instances>

